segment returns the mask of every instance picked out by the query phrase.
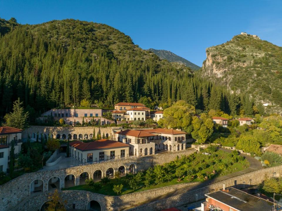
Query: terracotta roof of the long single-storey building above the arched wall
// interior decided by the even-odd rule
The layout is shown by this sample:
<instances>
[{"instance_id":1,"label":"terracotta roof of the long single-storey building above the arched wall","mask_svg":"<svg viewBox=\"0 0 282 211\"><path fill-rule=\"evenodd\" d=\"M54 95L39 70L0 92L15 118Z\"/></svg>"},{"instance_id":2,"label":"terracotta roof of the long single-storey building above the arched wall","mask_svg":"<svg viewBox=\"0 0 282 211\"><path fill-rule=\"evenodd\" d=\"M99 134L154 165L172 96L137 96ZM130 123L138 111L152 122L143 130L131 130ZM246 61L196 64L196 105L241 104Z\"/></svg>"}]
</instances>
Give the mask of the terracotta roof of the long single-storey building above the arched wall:
<instances>
[{"instance_id":1,"label":"terracotta roof of the long single-storey building above the arched wall","mask_svg":"<svg viewBox=\"0 0 282 211\"><path fill-rule=\"evenodd\" d=\"M83 143L82 141L73 141L70 143L70 146L81 151L129 147L128 144L108 139L100 139L88 143Z\"/></svg>"}]
</instances>

